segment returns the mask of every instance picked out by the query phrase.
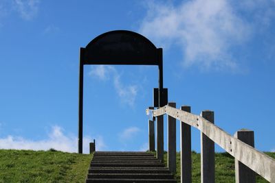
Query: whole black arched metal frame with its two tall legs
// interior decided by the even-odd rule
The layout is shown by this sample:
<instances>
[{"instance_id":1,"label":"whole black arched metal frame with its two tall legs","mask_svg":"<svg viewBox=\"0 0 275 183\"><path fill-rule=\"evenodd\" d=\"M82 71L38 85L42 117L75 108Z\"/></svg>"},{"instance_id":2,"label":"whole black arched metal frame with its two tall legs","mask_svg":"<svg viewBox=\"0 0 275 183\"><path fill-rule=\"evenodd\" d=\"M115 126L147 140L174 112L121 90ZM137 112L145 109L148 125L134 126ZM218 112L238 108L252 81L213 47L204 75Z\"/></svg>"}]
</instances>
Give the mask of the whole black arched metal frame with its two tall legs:
<instances>
[{"instance_id":1,"label":"whole black arched metal frame with its two tall legs","mask_svg":"<svg viewBox=\"0 0 275 183\"><path fill-rule=\"evenodd\" d=\"M85 64L155 65L159 68L159 107L163 100L162 48L157 48L144 36L126 30L106 32L80 48L78 153L83 153L83 68Z\"/></svg>"}]
</instances>

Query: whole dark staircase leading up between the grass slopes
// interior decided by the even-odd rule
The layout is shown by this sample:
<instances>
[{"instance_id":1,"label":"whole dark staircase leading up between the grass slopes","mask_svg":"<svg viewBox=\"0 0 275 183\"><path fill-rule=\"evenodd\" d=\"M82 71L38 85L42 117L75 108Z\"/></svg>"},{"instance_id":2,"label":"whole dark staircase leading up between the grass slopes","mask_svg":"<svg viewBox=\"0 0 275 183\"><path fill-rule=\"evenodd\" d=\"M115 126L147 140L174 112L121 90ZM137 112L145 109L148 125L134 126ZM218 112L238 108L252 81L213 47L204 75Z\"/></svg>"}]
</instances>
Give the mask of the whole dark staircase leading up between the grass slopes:
<instances>
[{"instance_id":1,"label":"whole dark staircase leading up between the grass slopes","mask_svg":"<svg viewBox=\"0 0 275 183\"><path fill-rule=\"evenodd\" d=\"M96 151L86 182L177 182L165 165L146 152Z\"/></svg>"}]
</instances>

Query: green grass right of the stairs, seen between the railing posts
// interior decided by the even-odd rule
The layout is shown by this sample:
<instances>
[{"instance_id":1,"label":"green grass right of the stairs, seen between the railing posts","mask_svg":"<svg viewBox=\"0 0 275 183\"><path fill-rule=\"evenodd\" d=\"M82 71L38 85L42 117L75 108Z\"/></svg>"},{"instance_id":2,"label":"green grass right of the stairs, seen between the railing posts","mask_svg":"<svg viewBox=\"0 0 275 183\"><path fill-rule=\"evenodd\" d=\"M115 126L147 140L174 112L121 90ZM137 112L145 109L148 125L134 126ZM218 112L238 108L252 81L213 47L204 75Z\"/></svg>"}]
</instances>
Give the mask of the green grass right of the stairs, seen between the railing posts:
<instances>
[{"instance_id":1,"label":"green grass right of the stairs, seen between the railing posts","mask_svg":"<svg viewBox=\"0 0 275 183\"><path fill-rule=\"evenodd\" d=\"M265 152L275 158L275 153ZM167 154L164 154L164 162L167 164ZM201 182L201 154L192 151L192 182ZM180 154L177 153L177 172L175 178L180 182ZM235 182L234 158L228 153L215 154L215 180L216 182ZM256 175L256 182L267 182L260 175Z\"/></svg>"}]
</instances>

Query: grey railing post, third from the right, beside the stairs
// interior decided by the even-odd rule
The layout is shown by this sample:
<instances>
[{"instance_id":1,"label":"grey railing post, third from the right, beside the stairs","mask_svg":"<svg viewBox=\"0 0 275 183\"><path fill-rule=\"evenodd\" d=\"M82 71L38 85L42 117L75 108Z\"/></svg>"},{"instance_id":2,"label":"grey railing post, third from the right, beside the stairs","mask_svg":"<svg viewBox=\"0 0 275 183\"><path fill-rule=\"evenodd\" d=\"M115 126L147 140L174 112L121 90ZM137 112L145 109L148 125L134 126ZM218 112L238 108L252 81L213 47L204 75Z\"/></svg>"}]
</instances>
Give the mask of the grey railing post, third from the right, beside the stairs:
<instances>
[{"instance_id":1,"label":"grey railing post, third from the right, beside the stairs","mask_svg":"<svg viewBox=\"0 0 275 183\"><path fill-rule=\"evenodd\" d=\"M181 106L181 110L191 112L190 106ZM191 127L180 122L181 183L192 182Z\"/></svg>"}]
</instances>

